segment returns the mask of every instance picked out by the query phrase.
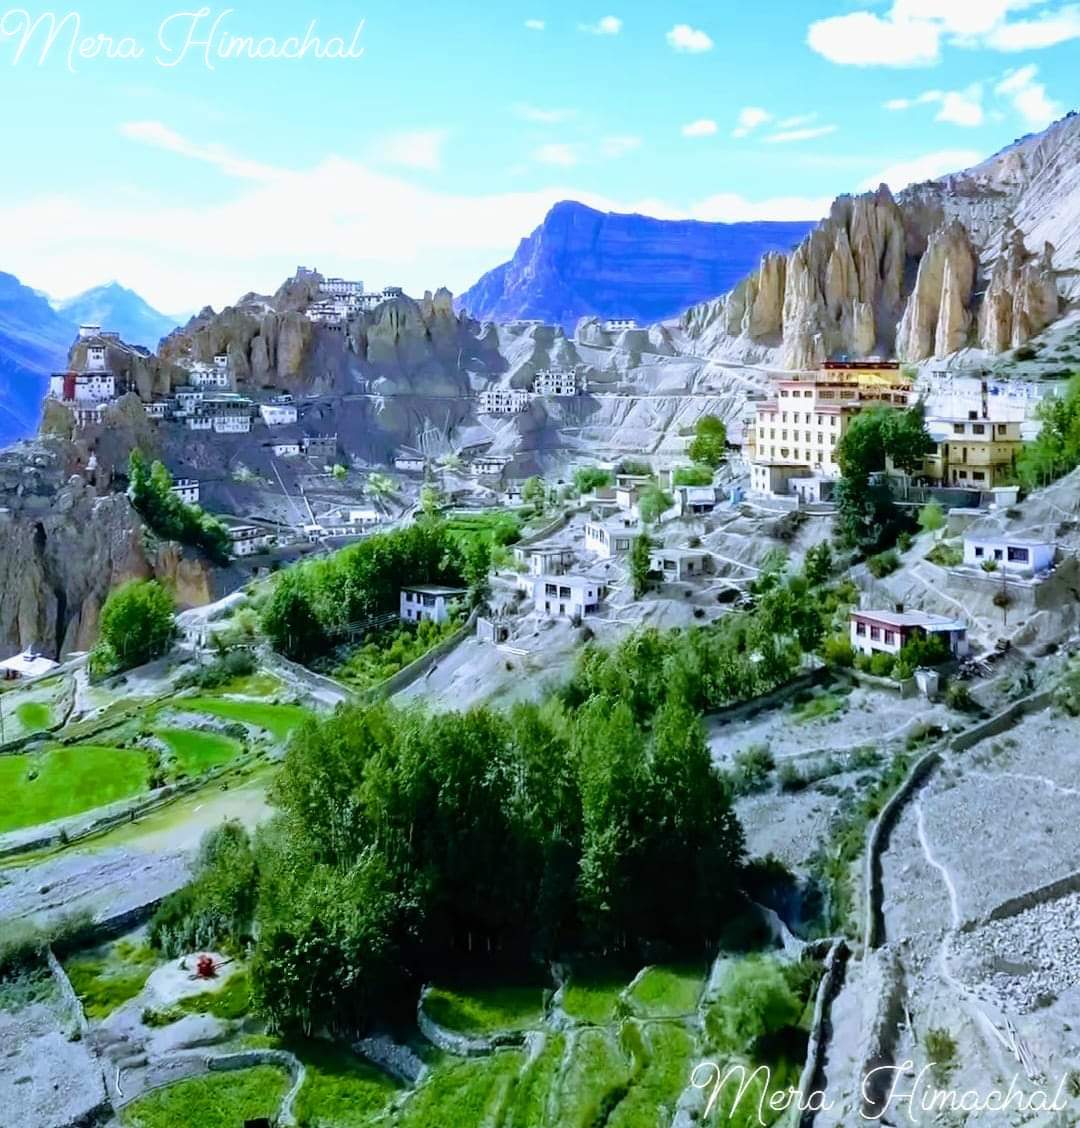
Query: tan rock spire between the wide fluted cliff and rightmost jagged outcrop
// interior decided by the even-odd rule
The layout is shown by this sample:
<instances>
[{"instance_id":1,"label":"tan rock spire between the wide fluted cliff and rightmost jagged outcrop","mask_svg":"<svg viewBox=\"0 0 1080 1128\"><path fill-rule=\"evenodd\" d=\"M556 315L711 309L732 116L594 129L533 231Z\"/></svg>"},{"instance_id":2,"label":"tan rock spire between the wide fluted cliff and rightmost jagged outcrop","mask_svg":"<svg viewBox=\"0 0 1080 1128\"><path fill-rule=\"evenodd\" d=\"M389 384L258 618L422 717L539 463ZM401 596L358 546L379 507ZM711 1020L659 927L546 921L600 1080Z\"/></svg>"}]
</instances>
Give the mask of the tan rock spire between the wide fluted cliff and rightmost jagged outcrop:
<instances>
[{"instance_id":1,"label":"tan rock spire between the wide fluted cliff and rightmost jagged outcrop","mask_svg":"<svg viewBox=\"0 0 1080 1128\"><path fill-rule=\"evenodd\" d=\"M896 334L901 360L943 356L967 344L975 266L975 252L959 220L931 235Z\"/></svg>"}]
</instances>

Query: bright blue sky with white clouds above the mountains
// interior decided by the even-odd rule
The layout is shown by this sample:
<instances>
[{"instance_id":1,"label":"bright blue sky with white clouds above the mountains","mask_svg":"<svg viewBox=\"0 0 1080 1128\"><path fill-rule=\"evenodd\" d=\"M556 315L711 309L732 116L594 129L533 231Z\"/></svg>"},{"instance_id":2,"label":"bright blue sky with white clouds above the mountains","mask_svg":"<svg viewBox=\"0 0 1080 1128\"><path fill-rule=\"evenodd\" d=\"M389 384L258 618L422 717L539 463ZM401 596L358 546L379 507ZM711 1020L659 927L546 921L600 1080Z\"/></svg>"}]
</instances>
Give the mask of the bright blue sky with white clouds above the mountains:
<instances>
[{"instance_id":1,"label":"bright blue sky with white clouds above the mountains","mask_svg":"<svg viewBox=\"0 0 1080 1128\"><path fill-rule=\"evenodd\" d=\"M0 270L169 314L459 292L565 199L816 219L1080 105L1062 0L5 2Z\"/></svg>"}]
</instances>

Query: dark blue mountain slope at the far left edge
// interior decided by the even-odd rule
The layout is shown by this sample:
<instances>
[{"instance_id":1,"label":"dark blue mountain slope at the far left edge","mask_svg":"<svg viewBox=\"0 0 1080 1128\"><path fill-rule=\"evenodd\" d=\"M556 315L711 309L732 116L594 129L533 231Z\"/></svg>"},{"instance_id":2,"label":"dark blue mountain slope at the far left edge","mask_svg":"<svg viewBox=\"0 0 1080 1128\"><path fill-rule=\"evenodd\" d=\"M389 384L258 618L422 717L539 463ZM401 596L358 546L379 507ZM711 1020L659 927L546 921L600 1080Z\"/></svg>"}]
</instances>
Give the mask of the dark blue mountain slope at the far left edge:
<instances>
[{"instance_id":1,"label":"dark blue mountain slope at the far left edge","mask_svg":"<svg viewBox=\"0 0 1080 1128\"><path fill-rule=\"evenodd\" d=\"M0 272L0 447L37 429L49 374L73 336L46 298Z\"/></svg>"}]
</instances>

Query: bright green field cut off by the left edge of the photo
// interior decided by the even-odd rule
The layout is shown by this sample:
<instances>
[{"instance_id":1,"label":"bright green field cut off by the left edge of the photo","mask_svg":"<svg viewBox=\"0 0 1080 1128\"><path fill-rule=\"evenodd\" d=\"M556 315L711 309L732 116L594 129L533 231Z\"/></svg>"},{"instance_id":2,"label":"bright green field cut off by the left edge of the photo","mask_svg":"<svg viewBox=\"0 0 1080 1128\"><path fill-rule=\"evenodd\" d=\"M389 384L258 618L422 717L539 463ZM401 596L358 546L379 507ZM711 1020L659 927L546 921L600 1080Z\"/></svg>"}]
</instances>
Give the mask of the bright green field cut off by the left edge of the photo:
<instances>
[{"instance_id":1,"label":"bright green field cut off by the left edge of the photo","mask_svg":"<svg viewBox=\"0 0 1080 1128\"><path fill-rule=\"evenodd\" d=\"M0 832L129 799L146 786L147 754L141 748L70 744L0 756Z\"/></svg>"}]
</instances>

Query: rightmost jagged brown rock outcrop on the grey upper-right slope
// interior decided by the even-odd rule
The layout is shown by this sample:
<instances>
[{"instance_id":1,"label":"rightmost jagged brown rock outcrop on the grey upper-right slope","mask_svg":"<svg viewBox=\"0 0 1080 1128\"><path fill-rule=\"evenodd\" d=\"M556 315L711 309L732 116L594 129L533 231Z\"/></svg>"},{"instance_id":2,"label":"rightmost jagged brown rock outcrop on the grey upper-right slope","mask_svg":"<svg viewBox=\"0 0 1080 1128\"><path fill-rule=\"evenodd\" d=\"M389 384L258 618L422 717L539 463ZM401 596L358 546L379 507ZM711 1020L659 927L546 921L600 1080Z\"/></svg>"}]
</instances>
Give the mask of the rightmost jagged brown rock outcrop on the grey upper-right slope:
<instances>
[{"instance_id":1,"label":"rightmost jagged brown rock outcrop on the grey upper-right slope","mask_svg":"<svg viewBox=\"0 0 1080 1128\"><path fill-rule=\"evenodd\" d=\"M1060 312L1053 268L1054 248L1028 254L1024 235L1007 228L990 275L978 323L980 344L990 352L1015 349L1055 320Z\"/></svg>"}]
</instances>

